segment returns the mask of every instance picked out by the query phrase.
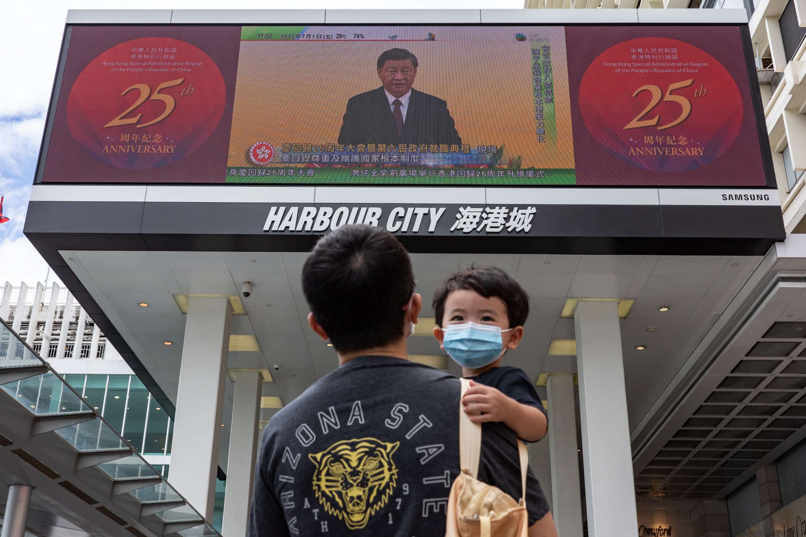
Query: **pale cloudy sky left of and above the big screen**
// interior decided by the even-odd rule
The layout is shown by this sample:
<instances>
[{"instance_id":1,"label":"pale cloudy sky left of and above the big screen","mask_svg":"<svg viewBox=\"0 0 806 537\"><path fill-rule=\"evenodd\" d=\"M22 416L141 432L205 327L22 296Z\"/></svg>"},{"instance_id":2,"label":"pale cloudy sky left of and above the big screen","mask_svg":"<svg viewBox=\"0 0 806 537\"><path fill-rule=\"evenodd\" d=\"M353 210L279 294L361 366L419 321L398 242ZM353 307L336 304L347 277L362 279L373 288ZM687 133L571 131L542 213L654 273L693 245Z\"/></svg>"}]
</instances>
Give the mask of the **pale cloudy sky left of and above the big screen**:
<instances>
[{"instance_id":1,"label":"pale cloudy sky left of and above the big screen","mask_svg":"<svg viewBox=\"0 0 806 537\"><path fill-rule=\"evenodd\" d=\"M119 2L34 0L5 2L0 17L0 285L44 281L48 265L23 235L25 213L42 139L56 60L68 9L112 9ZM130 6L131 4L127 4ZM298 0L139 0L139 9L297 9ZM522 0L308 0L306 9L521 8ZM50 280L54 275L51 273Z\"/></svg>"}]
</instances>

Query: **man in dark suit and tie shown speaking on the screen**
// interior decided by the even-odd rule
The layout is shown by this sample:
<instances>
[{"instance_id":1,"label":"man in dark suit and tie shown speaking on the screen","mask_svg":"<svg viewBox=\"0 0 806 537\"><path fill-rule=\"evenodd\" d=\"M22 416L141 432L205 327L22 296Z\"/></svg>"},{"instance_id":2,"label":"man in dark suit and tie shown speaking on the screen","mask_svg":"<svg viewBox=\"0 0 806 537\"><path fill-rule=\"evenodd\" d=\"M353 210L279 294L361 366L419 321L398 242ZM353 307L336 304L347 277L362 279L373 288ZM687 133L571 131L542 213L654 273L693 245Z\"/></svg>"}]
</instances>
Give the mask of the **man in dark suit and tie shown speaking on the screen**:
<instances>
[{"instance_id":1,"label":"man in dark suit and tie shown speaking on the screen","mask_svg":"<svg viewBox=\"0 0 806 537\"><path fill-rule=\"evenodd\" d=\"M339 143L461 145L447 103L411 87L417 68L417 57L405 48L392 48L378 56L378 78L383 85L347 101Z\"/></svg>"}]
</instances>

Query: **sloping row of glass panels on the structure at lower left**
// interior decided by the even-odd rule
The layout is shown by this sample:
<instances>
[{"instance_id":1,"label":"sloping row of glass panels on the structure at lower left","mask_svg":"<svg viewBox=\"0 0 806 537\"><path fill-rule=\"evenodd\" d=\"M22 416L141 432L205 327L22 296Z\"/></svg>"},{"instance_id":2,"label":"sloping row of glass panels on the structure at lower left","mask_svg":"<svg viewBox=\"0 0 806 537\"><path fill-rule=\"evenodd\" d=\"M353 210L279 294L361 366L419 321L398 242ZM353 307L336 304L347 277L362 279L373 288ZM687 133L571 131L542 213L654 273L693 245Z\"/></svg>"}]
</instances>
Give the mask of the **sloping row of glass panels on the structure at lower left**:
<instances>
[{"instance_id":1,"label":"sloping row of glass panels on the structure at lower left","mask_svg":"<svg viewBox=\"0 0 806 537\"><path fill-rule=\"evenodd\" d=\"M95 467L106 473L113 481L148 479L143 483L146 486L132 489L125 494L130 494L143 505L152 506L166 502L166 506L172 508L158 512L150 510L152 514L147 516L160 518L166 524L181 524L184 529L178 533L182 537L220 537L218 531L207 523L193 506L185 503L184 506L177 507L176 502L184 501L181 494L177 493L131 444L111 428L97 411L85 403L76 390L64 382L46 361L0 319L0 378L4 372L26 368L32 368L31 376L20 378L25 373L15 373L18 380L0 384L0 390L35 415L36 419L87 415L89 419L56 429L54 432L79 453L109 452L118 449L127 453L122 458L102 462ZM160 481L155 482L154 479Z\"/></svg>"}]
</instances>

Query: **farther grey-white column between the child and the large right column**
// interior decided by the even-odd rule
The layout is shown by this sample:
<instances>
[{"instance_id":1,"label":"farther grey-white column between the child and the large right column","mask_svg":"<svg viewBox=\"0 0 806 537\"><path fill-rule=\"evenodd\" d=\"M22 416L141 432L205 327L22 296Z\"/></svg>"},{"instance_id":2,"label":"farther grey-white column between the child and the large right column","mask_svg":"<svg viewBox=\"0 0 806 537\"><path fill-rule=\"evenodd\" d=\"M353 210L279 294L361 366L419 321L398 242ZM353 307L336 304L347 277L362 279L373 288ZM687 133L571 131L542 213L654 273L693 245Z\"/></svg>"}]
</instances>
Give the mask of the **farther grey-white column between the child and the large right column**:
<instances>
[{"instance_id":1,"label":"farther grey-white column between the child and the large right column","mask_svg":"<svg viewBox=\"0 0 806 537\"><path fill-rule=\"evenodd\" d=\"M550 375L549 452L551 457L551 514L557 535L582 537L580 459L576 443L574 378Z\"/></svg>"}]
</instances>

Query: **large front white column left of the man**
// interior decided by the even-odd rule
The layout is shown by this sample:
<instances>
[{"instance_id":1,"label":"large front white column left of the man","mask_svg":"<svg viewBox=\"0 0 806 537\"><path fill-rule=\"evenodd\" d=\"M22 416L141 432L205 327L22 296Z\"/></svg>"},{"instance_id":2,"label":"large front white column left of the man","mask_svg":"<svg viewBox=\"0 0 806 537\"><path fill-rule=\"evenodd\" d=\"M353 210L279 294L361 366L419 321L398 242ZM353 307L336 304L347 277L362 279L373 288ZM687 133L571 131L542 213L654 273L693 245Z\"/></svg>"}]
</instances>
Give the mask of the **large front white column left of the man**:
<instances>
[{"instance_id":1,"label":"large front white column left of the man","mask_svg":"<svg viewBox=\"0 0 806 537\"><path fill-rule=\"evenodd\" d=\"M215 501L230 320L228 297L189 297L170 477L208 520Z\"/></svg>"}]
</instances>

